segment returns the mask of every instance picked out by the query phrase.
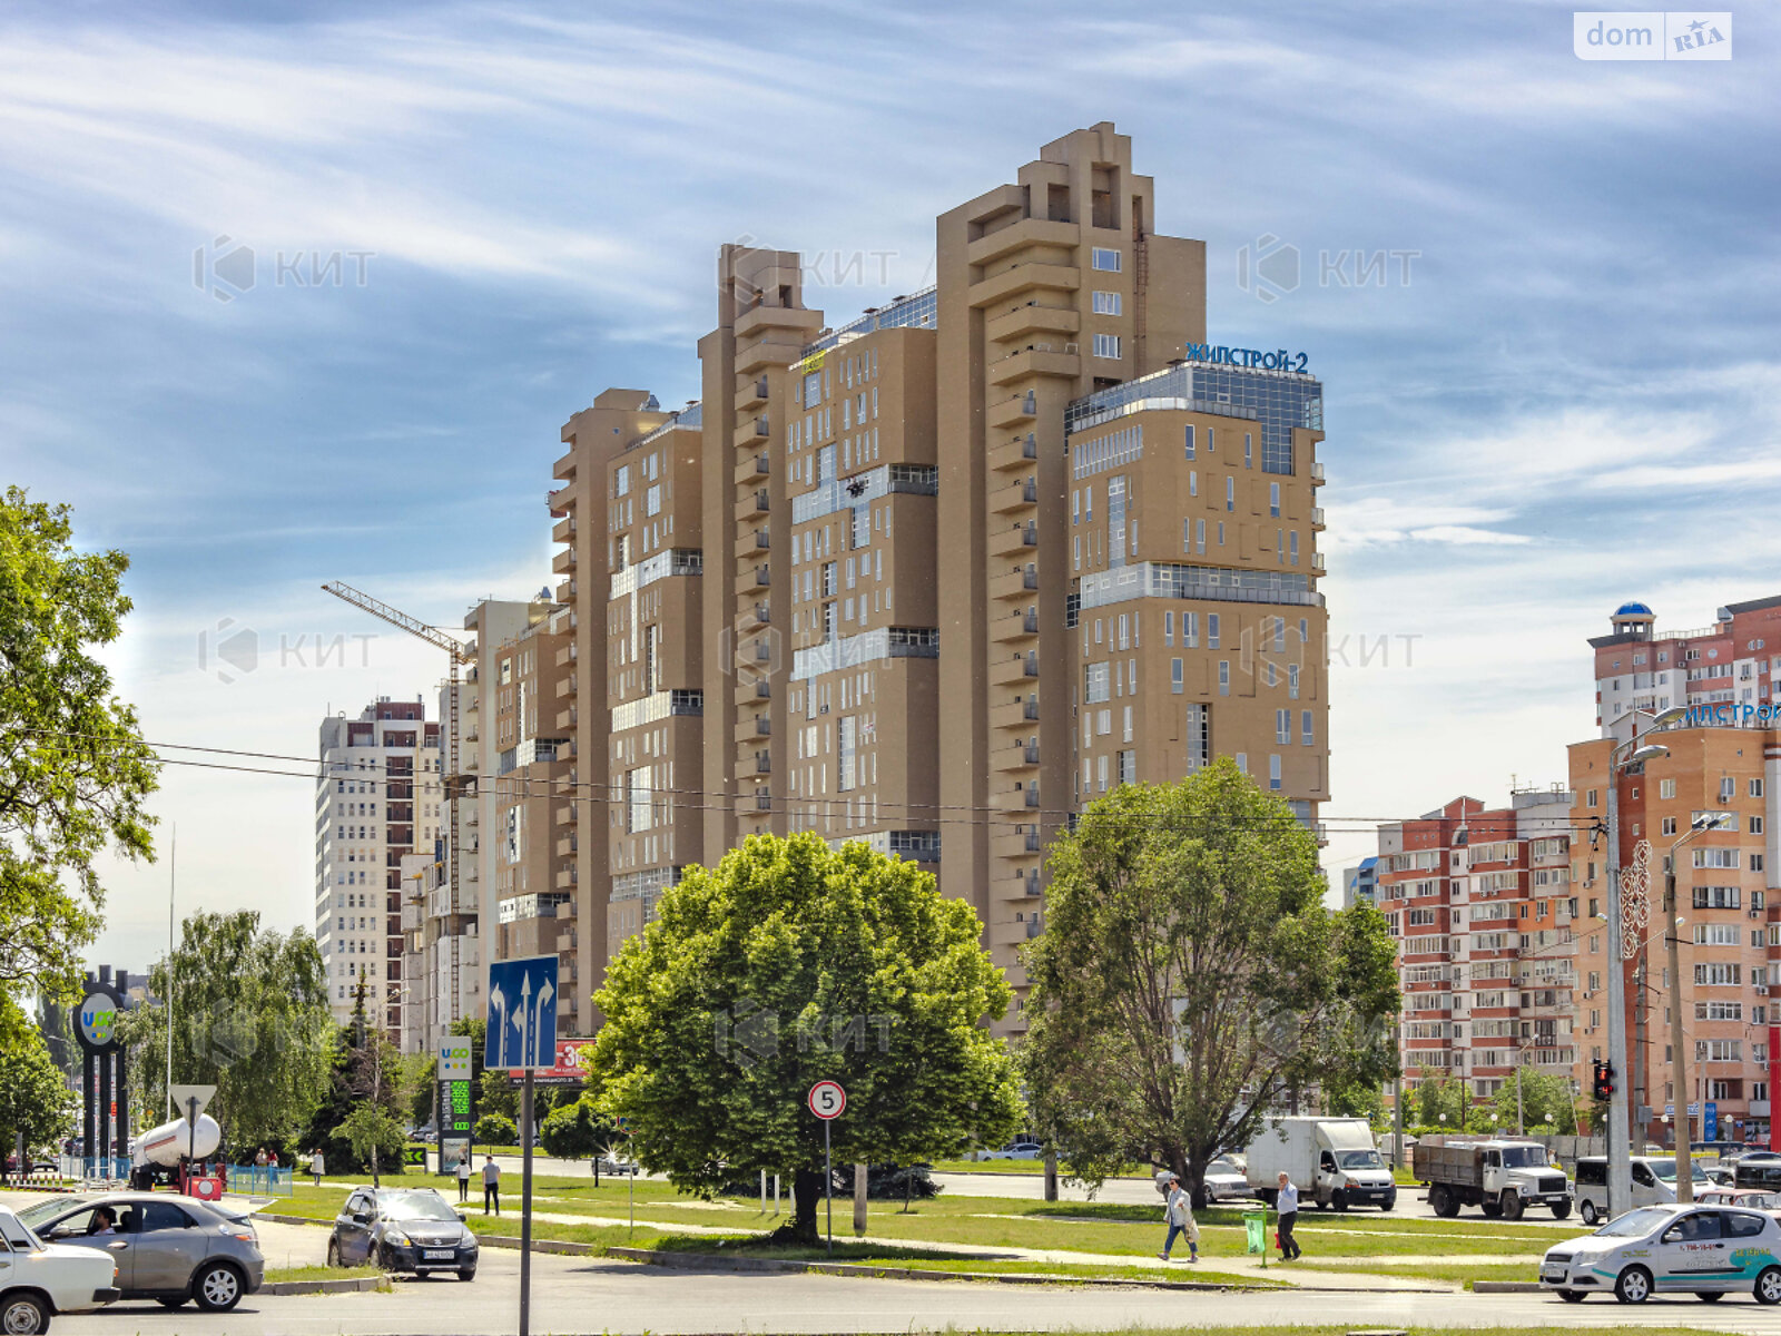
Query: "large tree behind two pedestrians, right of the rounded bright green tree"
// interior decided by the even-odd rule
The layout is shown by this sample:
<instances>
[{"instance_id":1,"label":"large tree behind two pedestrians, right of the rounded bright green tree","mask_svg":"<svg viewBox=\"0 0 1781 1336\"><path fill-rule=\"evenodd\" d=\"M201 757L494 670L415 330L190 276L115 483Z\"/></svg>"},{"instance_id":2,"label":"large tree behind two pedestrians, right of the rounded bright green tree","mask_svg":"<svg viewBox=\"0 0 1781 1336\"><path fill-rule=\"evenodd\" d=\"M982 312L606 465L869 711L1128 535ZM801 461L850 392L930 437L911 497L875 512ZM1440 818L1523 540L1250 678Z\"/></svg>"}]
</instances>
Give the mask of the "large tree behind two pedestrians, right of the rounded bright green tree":
<instances>
[{"instance_id":1,"label":"large tree behind two pedestrians, right of the rounded bright green tree","mask_svg":"<svg viewBox=\"0 0 1781 1336\"><path fill-rule=\"evenodd\" d=\"M1092 803L1045 903L1022 1067L1081 1181L1136 1158L1204 1201L1206 1165L1266 1113L1393 1071L1384 917L1325 908L1314 839L1229 759Z\"/></svg>"}]
</instances>

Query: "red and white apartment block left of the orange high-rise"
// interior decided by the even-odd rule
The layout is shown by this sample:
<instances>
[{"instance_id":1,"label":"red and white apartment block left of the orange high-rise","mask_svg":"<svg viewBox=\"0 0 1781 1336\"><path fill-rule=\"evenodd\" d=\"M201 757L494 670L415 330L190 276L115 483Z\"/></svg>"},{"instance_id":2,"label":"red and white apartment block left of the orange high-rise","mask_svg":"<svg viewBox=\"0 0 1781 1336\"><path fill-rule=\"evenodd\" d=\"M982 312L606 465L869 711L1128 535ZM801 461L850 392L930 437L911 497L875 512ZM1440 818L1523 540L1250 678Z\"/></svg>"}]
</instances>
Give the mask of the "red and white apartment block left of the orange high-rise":
<instances>
[{"instance_id":1,"label":"red and white apartment block left of the orange high-rise","mask_svg":"<svg viewBox=\"0 0 1781 1336\"><path fill-rule=\"evenodd\" d=\"M1517 1067L1573 1076L1585 926L1571 844L1562 789L1494 809L1455 798L1378 828L1375 903L1398 939L1405 1079L1460 1078L1485 1099Z\"/></svg>"}]
</instances>

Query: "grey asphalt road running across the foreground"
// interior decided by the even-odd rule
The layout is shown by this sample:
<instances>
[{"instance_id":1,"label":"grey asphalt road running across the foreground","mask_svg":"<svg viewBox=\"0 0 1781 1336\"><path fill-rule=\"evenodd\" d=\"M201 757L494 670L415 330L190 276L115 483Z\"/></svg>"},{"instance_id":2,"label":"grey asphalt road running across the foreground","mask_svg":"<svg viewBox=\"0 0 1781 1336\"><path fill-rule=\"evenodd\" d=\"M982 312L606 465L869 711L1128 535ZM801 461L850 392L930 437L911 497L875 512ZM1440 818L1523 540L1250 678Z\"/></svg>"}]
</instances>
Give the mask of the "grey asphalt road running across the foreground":
<instances>
[{"instance_id":1,"label":"grey asphalt road running across the foreground","mask_svg":"<svg viewBox=\"0 0 1781 1336\"><path fill-rule=\"evenodd\" d=\"M289 1226L299 1229L299 1226ZM267 1226L271 1236L276 1226ZM313 1231L322 1234L322 1231ZM269 1238L269 1247L278 1243ZM1118 1331L1131 1325L1327 1322L1352 1327L1610 1327L1633 1311L1544 1295L1282 1295L1143 1288L1010 1286L974 1281L858 1281L830 1275L680 1272L623 1261L536 1256L533 1331L575 1332L910 1332ZM497 1336L515 1331L518 1254L488 1250L476 1281L404 1281L388 1295L251 1297L212 1316L159 1304L116 1304L57 1318L62 1336ZM1728 1299L1653 1299L1640 1325L1774 1336L1772 1309Z\"/></svg>"}]
</instances>

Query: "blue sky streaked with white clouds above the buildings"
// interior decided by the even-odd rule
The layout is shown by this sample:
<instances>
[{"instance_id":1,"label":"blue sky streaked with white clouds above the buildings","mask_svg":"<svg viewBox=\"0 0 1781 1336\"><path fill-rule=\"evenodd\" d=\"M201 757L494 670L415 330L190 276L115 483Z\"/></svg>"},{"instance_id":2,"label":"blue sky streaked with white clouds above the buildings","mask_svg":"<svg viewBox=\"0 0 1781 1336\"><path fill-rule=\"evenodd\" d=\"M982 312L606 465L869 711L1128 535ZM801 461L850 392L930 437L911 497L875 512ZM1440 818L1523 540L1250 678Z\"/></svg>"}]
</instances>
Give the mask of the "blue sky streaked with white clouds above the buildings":
<instances>
[{"instance_id":1,"label":"blue sky streaked with white clouds above the buildings","mask_svg":"<svg viewBox=\"0 0 1781 1336\"><path fill-rule=\"evenodd\" d=\"M1158 230L1208 244L1213 342L1325 385L1339 869L1375 821L1562 782L1622 600L1679 629L1781 591L1777 36L1753 7L1731 61L1580 61L1526 0L25 0L0 477L130 554L107 659L150 741L313 757L322 714L443 670L321 582L445 627L552 582L561 426L698 394L720 244L803 251L839 324L931 281L939 212L1113 121ZM162 949L169 862L180 916L312 923L305 764L183 755L289 773L167 766L93 960Z\"/></svg>"}]
</instances>

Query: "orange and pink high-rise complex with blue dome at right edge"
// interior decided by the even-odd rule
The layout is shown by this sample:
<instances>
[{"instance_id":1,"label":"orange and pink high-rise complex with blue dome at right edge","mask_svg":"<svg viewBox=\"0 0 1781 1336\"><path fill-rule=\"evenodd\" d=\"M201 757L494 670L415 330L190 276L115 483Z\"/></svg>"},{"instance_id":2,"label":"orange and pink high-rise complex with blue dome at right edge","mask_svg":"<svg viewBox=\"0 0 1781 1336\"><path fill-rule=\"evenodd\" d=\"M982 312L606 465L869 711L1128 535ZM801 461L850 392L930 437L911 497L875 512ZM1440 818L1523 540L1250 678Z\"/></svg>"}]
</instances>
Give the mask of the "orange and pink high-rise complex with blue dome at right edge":
<instances>
[{"instance_id":1,"label":"orange and pink high-rise complex with blue dome at right edge","mask_svg":"<svg viewBox=\"0 0 1781 1336\"><path fill-rule=\"evenodd\" d=\"M1676 1104L1687 1103L1712 1108L1720 1140L1769 1144L1770 1026L1781 1019L1781 905L1774 880L1781 859L1774 844L1781 821L1781 718L1770 691L1781 677L1781 599L1728 604L1712 627L1678 632L1656 631L1646 604L1624 604L1612 627L1612 634L1590 639L1603 736L1571 746L1571 784L1578 828L1594 832L1574 862L1589 914L1601 912L1612 894L1606 800L1608 786L1617 784L1617 862L1633 880L1631 955L1622 962L1631 1071L1622 1079L1631 1104L1651 1110L1640 1124L1655 1142L1672 1136L1674 1120L1663 1124L1665 1110L1674 1119ZM1674 709L1688 713L1646 737L1663 752L1610 775L1610 748L1635 730L1651 730L1655 714ZM1694 832L1706 812L1726 814L1724 823ZM1678 850L1683 839L1687 846ZM1671 976L1662 925L1672 862L1683 919L1679 978ZM1601 951L1580 960L1592 992L1578 1014L1585 1069L1608 1051L1605 980L1612 955L1606 944ZM1685 1099L1669 1067L1676 1006L1690 1049ZM1694 1136L1703 1135L1697 1112Z\"/></svg>"}]
</instances>

